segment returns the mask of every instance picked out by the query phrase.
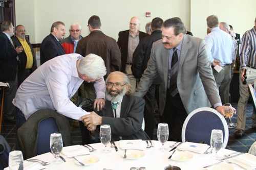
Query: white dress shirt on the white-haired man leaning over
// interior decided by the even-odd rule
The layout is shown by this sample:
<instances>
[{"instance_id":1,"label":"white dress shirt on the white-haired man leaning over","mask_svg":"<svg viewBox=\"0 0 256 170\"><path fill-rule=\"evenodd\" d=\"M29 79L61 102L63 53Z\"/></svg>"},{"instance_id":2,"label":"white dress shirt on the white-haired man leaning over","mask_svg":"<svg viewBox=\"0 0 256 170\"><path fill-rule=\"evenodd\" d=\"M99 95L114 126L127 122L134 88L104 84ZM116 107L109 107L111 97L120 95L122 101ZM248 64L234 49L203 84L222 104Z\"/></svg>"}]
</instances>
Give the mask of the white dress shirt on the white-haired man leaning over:
<instances>
[{"instance_id":1,"label":"white dress shirt on the white-haired man leaning over","mask_svg":"<svg viewBox=\"0 0 256 170\"><path fill-rule=\"evenodd\" d=\"M83 57L68 54L55 57L38 67L18 88L13 104L26 119L40 109L52 109L73 119L89 114L70 99L83 80L78 77L76 62ZM94 83L97 98L105 96L103 77Z\"/></svg>"}]
</instances>

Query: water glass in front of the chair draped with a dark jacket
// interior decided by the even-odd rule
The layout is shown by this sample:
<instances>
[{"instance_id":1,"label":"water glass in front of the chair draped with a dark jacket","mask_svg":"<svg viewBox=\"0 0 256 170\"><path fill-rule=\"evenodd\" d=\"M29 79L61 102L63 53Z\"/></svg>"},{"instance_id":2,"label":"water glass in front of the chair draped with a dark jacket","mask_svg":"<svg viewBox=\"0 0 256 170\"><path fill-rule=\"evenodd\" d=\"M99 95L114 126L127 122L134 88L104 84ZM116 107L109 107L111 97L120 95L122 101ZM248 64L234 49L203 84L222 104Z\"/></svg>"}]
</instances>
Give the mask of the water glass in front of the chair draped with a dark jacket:
<instances>
[{"instance_id":1,"label":"water glass in front of the chair draped with a dark jacket","mask_svg":"<svg viewBox=\"0 0 256 170\"><path fill-rule=\"evenodd\" d=\"M57 164L61 163L62 161L59 158L59 154L61 153L62 148L63 148L61 133L52 133L51 134L50 148L55 157L54 162Z\"/></svg>"}]
</instances>

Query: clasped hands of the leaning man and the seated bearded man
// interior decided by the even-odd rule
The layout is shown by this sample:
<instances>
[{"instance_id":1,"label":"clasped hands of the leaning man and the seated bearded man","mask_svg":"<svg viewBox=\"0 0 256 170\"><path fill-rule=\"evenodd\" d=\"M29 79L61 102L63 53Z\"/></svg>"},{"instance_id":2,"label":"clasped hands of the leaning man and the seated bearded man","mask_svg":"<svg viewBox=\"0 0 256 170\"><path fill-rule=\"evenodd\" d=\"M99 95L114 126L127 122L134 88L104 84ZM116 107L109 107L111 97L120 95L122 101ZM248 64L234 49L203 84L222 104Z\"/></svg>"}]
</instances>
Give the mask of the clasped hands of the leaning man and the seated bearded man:
<instances>
[{"instance_id":1,"label":"clasped hands of the leaning man and the seated bearded man","mask_svg":"<svg viewBox=\"0 0 256 170\"><path fill-rule=\"evenodd\" d=\"M82 119L84 126L87 127L87 129L92 129L94 126L101 125L102 123L102 117L99 116L95 112L90 112L91 114L87 114L82 116L80 119Z\"/></svg>"}]
</instances>

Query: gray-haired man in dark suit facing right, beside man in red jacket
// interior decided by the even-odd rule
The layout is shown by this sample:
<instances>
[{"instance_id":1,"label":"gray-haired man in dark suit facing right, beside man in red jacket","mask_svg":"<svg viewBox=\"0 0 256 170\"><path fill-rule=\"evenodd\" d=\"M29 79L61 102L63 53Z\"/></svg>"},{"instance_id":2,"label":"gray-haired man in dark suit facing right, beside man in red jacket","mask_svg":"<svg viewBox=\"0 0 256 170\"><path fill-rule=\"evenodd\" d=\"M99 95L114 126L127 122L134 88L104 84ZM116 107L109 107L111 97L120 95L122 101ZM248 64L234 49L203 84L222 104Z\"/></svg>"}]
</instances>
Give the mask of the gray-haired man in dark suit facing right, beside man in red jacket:
<instances>
[{"instance_id":1,"label":"gray-haired man in dark suit facing right, beside man in red jacket","mask_svg":"<svg viewBox=\"0 0 256 170\"><path fill-rule=\"evenodd\" d=\"M40 64L51 60L54 57L65 55L64 48L60 44L60 40L66 34L65 24L61 21L54 22L51 27L51 33L44 40L40 46Z\"/></svg>"}]
</instances>

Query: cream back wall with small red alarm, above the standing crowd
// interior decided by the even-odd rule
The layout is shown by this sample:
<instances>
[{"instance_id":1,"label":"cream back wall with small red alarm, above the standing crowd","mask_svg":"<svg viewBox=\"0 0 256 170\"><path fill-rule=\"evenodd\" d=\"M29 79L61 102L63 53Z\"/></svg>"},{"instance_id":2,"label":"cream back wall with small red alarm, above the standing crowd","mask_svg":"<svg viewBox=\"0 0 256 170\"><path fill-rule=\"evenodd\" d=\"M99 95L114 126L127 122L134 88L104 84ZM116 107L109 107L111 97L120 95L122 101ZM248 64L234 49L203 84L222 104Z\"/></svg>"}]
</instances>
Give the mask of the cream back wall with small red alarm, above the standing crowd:
<instances>
[{"instance_id":1,"label":"cream back wall with small red alarm, above the standing crowd","mask_svg":"<svg viewBox=\"0 0 256 170\"><path fill-rule=\"evenodd\" d=\"M92 15L100 17L103 33L116 40L119 31L129 29L130 18L133 16L140 17L140 30L143 32L146 23L154 17L165 20L178 16L189 28L189 0L16 0L15 3L16 22L26 27L32 43L41 43L50 33L52 23L58 20L66 24L66 37L72 22L80 23L82 36L87 36L87 21ZM145 12L151 12L151 17L146 18Z\"/></svg>"}]
</instances>

